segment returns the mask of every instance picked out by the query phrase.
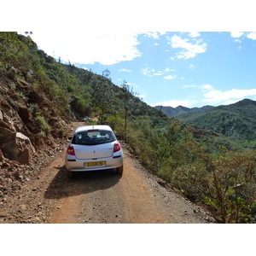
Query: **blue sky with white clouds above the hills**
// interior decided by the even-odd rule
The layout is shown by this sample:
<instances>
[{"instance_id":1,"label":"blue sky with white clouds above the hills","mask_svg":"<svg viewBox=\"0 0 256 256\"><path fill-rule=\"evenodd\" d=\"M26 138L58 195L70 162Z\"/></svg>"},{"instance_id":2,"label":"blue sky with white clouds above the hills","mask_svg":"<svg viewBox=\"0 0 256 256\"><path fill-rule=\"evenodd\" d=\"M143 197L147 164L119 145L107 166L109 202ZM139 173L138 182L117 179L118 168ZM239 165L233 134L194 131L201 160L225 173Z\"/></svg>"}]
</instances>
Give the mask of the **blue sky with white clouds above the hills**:
<instances>
[{"instance_id":1,"label":"blue sky with white clouds above the hills","mask_svg":"<svg viewBox=\"0 0 256 256\"><path fill-rule=\"evenodd\" d=\"M33 40L47 54L130 84L148 105L218 106L256 100L256 32L107 32ZM75 39L72 39L75 38Z\"/></svg>"}]
</instances>

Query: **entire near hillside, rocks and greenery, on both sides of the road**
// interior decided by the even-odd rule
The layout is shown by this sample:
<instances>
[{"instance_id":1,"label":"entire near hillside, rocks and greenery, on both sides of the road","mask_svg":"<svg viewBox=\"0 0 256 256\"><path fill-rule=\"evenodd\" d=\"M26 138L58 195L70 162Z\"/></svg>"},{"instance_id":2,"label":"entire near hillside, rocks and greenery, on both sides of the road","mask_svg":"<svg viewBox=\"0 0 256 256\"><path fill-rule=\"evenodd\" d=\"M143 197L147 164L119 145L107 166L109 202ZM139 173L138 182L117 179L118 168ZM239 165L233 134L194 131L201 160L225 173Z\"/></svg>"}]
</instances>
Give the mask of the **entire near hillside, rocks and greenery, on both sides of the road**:
<instances>
[{"instance_id":1,"label":"entire near hillside, rocks and greenery, on both sides of the road","mask_svg":"<svg viewBox=\"0 0 256 256\"><path fill-rule=\"evenodd\" d=\"M219 222L256 222L255 151L237 151L219 131L168 118L125 81L113 84L107 69L97 75L62 64L29 36L0 32L0 200L15 168L57 148L70 121L84 116L111 125L149 172L208 207Z\"/></svg>"}]
</instances>

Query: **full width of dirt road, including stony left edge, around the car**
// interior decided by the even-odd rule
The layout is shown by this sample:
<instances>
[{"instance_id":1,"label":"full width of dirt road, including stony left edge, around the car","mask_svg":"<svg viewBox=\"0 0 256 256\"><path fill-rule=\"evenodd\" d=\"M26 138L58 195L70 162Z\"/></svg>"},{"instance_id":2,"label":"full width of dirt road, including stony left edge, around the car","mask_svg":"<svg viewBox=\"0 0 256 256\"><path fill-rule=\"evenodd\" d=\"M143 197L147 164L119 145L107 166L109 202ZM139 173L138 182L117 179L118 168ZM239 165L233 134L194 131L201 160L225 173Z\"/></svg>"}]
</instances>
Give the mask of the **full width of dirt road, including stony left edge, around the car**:
<instances>
[{"instance_id":1,"label":"full width of dirt road, including stony left edge, around the car","mask_svg":"<svg viewBox=\"0 0 256 256\"><path fill-rule=\"evenodd\" d=\"M78 124L76 124L78 125ZM68 178L63 150L18 197L7 199L0 223L183 224L213 218L166 188L124 149L124 173L81 172ZM9 204L8 204L9 202Z\"/></svg>"}]
</instances>

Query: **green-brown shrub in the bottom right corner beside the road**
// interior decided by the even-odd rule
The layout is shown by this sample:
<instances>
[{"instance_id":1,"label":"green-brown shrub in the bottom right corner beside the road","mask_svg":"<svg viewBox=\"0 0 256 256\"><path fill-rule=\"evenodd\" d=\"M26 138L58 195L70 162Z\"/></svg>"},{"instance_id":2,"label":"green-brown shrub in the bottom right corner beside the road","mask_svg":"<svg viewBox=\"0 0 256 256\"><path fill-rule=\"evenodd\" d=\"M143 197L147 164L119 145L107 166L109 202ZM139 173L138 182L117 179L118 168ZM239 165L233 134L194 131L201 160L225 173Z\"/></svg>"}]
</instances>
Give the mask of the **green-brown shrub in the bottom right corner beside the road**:
<instances>
[{"instance_id":1,"label":"green-brown shrub in the bottom right corner beside the road","mask_svg":"<svg viewBox=\"0 0 256 256\"><path fill-rule=\"evenodd\" d=\"M226 150L215 161L204 155L194 164L177 167L172 183L211 207L219 222L255 223L255 153Z\"/></svg>"}]
</instances>

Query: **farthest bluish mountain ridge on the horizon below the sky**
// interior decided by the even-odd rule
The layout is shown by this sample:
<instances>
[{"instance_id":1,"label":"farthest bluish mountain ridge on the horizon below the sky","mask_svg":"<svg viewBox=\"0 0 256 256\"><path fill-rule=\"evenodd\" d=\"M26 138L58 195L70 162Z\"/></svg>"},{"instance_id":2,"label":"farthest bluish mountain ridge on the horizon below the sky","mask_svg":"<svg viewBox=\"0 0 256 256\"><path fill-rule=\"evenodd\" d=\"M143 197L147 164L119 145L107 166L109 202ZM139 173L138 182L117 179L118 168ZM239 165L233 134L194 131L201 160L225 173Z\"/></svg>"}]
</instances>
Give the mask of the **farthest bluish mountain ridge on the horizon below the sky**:
<instances>
[{"instance_id":1,"label":"farthest bluish mountain ridge on the horizon below the sky","mask_svg":"<svg viewBox=\"0 0 256 256\"><path fill-rule=\"evenodd\" d=\"M197 112L205 111L209 108L214 108L214 107L204 106L202 108L186 108L183 106L178 106L177 108L172 108L172 107L155 106L154 108L160 109L162 112L166 113L166 115L170 117L174 117L182 113L197 113Z\"/></svg>"}]
</instances>

